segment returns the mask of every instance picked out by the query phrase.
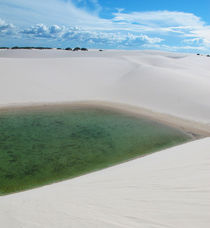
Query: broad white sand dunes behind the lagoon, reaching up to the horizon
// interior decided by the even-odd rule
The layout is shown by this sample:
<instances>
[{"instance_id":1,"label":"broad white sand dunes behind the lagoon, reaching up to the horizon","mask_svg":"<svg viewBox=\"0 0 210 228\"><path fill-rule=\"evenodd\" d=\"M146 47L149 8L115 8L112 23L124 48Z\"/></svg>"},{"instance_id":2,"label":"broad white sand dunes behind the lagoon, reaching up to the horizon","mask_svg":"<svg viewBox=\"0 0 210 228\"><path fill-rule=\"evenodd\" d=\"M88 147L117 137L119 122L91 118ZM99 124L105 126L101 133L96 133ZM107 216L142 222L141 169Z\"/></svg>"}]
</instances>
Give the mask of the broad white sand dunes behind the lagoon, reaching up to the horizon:
<instances>
[{"instance_id":1,"label":"broad white sand dunes behind the lagoon, reaching up to the horizon","mask_svg":"<svg viewBox=\"0 0 210 228\"><path fill-rule=\"evenodd\" d=\"M103 100L210 123L210 58L205 56L5 50L0 57L1 106Z\"/></svg>"}]
</instances>

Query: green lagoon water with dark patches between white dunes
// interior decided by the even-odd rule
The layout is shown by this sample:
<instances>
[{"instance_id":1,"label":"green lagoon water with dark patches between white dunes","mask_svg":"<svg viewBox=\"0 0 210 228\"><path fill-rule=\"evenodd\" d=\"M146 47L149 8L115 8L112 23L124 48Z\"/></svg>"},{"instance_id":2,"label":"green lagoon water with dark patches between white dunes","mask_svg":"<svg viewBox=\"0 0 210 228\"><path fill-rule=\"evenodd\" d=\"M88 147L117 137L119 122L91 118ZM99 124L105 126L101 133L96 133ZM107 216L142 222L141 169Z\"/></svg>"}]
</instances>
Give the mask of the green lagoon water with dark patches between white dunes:
<instances>
[{"instance_id":1,"label":"green lagoon water with dark patches between white dunes","mask_svg":"<svg viewBox=\"0 0 210 228\"><path fill-rule=\"evenodd\" d=\"M163 124L97 108L0 114L0 194L102 169L191 138Z\"/></svg>"}]
</instances>

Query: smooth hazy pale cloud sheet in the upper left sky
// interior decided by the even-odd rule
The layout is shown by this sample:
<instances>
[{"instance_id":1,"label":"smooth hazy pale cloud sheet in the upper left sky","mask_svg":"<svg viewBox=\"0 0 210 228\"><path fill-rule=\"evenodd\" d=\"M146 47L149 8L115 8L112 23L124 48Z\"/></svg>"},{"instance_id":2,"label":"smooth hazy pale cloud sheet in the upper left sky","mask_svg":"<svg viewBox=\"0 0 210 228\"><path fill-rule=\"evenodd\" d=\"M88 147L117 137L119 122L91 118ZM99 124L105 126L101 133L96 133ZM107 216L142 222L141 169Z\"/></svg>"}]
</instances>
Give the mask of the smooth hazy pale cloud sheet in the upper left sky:
<instances>
[{"instance_id":1,"label":"smooth hazy pale cloud sheet in the upper left sky","mask_svg":"<svg viewBox=\"0 0 210 228\"><path fill-rule=\"evenodd\" d=\"M73 0L1 0L0 15L18 26L58 24L83 27L110 26L110 21L78 8Z\"/></svg>"}]
</instances>

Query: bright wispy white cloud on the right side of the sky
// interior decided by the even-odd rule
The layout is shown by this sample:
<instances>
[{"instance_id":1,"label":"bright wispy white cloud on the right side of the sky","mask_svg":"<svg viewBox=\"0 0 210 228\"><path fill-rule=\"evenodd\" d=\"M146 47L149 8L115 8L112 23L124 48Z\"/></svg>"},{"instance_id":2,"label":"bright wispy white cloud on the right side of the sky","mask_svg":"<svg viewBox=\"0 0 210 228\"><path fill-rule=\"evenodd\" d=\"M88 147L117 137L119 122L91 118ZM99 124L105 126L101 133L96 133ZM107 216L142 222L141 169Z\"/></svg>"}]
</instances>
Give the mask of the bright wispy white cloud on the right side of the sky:
<instances>
[{"instance_id":1,"label":"bright wispy white cloud on the right side of the sky","mask_svg":"<svg viewBox=\"0 0 210 228\"><path fill-rule=\"evenodd\" d=\"M210 47L210 26L192 13L152 11L117 12L113 15L114 22L123 23L133 31L171 35L189 42L196 41L206 48ZM186 37L189 39L185 39Z\"/></svg>"}]
</instances>

